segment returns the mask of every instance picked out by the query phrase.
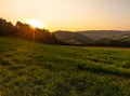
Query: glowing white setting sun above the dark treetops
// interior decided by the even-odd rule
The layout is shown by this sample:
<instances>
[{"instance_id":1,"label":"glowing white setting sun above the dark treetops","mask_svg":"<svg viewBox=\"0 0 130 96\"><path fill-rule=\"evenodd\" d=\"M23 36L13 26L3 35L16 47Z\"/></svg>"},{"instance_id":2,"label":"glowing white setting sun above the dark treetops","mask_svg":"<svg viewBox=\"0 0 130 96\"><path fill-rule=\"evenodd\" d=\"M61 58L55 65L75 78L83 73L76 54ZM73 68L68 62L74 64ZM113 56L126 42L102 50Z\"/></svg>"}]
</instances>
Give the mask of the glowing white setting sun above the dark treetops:
<instances>
[{"instance_id":1,"label":"glowing white setting sun above the dark treetops","mask_svg":"<svg viewBox=\"0 0 130 96\"><path fill-rule=\"evenodd\" d=\"M26 23L32 26L34 28L43 28L43 24L35 18L27 19Z\"/></svg>"}]
</instances>

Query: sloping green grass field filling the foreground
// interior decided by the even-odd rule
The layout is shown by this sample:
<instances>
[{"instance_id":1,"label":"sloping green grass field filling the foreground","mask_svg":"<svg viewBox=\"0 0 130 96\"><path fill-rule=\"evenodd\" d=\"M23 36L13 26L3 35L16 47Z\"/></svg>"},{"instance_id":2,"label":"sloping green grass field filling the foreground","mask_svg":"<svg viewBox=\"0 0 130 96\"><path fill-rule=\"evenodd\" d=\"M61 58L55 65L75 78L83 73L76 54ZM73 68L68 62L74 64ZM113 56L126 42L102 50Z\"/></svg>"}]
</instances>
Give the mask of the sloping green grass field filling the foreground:
<instances>
[{"instance_id":1,"label":"sloping green grass field filling the foreground","mask_svg":"<svg viewBox=\"0 0 130 96\"><path fill-rule=\"evenodd\" d=\"M130 49L0 37L0 96L130 96Z\"/></svg>"}]
</instances>

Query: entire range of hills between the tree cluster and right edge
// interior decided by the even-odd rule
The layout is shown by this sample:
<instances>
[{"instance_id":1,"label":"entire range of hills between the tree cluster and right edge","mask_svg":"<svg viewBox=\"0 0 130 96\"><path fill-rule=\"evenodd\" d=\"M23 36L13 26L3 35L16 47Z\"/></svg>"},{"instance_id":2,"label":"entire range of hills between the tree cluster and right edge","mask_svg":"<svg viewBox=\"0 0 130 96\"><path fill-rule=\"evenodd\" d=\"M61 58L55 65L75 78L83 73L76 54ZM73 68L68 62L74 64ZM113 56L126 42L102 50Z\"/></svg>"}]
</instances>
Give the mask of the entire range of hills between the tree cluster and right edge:
<instances>
[{"instance_id":1,"label":"entire range of hills between the tree cluster and right edge","mask_svg":"<svg viewBox=\"0 0 130 96\"><path fill-rule=\"evenodd\" d=\"M53 32L54 37L67 44L100 45L100 46L130 46L130 31L118 30L90 30Z\"/></svg>"}]
</instances>

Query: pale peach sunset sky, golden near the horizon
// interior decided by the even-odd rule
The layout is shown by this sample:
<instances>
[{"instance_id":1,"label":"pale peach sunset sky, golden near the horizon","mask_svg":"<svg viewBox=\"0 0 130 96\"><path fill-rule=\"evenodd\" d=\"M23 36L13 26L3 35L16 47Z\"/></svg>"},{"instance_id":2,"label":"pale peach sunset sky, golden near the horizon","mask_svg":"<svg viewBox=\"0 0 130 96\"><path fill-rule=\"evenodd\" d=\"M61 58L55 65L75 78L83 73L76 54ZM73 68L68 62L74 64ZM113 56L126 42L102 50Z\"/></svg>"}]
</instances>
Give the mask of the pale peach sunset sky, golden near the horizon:
<instances>
[{"instance_id":1,"label":"pale peach sunset sky, golden near the horizon","mask_svg":"<svg viewBox=\"0 0 130 96\"><path fill-rule=\"evenodd\" d=\"M55 30L130 30L130 0L0 0L0 16Z\"/></svg>"}]
</instances>

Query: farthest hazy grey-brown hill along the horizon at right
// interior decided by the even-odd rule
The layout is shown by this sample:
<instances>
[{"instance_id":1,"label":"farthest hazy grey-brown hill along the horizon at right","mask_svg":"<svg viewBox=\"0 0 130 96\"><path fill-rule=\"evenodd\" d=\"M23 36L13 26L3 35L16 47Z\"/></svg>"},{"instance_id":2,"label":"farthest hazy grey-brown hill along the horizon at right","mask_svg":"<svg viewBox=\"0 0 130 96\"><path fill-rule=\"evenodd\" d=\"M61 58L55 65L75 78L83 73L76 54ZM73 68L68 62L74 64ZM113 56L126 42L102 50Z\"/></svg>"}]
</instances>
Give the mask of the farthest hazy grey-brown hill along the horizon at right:
<instances>
[{"instance_id":1,"label":"farthest hazy grey-brown hill along the horizon at right","mask_svg":"<svg viewBox=\"0 0 130 96\"><path fill-rule=\"evenodd\" d=\"M130 31L118 31L118 30L89 30L89 31L77 31L77 33L83 35L94 41L100 39L108 39L113 37L120 37L122 35L130 35Z\"/></svg>"}]
</instances>

